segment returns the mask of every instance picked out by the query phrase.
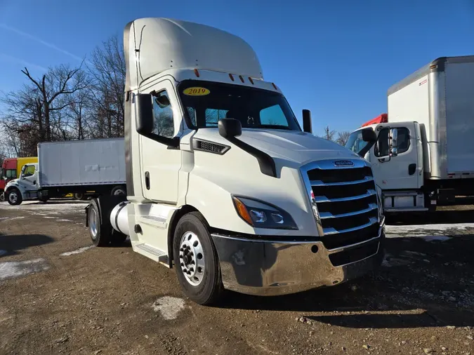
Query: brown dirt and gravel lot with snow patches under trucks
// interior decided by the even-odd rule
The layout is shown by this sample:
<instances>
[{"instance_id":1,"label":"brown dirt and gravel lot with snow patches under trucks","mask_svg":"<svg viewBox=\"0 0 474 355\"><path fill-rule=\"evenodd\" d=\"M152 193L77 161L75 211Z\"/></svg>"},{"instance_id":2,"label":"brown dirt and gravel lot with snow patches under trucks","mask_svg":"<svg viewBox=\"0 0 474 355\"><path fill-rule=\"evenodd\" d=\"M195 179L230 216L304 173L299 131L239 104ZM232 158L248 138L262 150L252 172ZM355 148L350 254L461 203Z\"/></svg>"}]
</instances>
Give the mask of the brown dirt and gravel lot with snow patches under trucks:
<instances>
[{"instance_id":1,"label":"brown dirt and gravel lot with snow patches under trucks","mask_svg":"<svg viewBox=\"0 0 474 355\"><path fill-rule=\"evenodd\" d=\"M85 203L0 203L0 354L471 354L474 210L390 218L378 272L202 307L130 244L91 248Z\"/></svg>"}]
</instances>

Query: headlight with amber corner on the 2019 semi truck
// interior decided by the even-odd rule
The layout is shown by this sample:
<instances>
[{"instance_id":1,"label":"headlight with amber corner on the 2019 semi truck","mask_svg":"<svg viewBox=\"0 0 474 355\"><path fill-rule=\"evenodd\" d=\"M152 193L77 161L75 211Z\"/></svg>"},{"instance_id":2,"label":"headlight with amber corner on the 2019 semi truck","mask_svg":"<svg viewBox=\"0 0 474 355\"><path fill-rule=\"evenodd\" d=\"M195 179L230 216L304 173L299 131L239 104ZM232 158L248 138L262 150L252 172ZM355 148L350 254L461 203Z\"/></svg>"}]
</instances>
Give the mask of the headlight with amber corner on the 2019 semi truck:
<instances>
[{"instance_id":1,"label":"headlight with amber corner on the 2019 semi truck","mask_svg":"<svg viewBox=\"0 0 474 355\"><path fill-rule=\"evenodd\" d=\"M256 228L298 229L289 213L275 206L247 197L232 196L237 214Z\"/></svg>"}]
</instances>

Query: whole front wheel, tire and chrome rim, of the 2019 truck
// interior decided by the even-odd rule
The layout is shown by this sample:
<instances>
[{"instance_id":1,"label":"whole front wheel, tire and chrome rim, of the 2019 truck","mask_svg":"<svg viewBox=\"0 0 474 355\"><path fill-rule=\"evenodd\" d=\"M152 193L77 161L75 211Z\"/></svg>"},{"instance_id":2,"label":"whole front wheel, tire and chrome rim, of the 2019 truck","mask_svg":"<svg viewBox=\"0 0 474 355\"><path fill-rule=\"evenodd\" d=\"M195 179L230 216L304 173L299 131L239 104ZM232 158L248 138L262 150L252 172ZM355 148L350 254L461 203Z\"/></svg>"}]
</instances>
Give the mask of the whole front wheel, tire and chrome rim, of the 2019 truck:
<instances>
[{"instance_id":1,"label":"whole front wheel, tire and chrome rim, of the 2019 truck","mask_svg":"<svg viewBox=\"0 0 474 355\"><path fill-rule=\"evenodd\" d=\"M185 295L198 304L213 304L223 293L218 255L200 213L181 217L173 238L176 275Z\"/></svg>"}]
</instances>

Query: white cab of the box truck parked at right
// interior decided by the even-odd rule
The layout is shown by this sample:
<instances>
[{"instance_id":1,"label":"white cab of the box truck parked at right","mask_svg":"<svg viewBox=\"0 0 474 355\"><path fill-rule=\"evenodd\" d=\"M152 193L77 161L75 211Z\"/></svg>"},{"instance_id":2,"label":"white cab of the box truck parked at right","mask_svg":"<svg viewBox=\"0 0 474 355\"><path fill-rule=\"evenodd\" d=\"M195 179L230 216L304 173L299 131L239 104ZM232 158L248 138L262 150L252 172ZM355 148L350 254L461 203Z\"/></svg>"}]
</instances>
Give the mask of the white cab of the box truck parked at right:
<instances>
[{"instance_id":1,"label":"white cab of the box truck parked at right","mask_svg":"<svg viewBox=\"0 0 474 355\"><path fill-rule=\"evenodd\" d=\"M362 140L362 130L376 133L377 140L364 158L371 163L387 213L426 211L430 206L429 196L423 192L422 128L414 121L388 123L382 114L355 130L345 145L360 152L370 144Z\"/></svg>"}]
</instances>

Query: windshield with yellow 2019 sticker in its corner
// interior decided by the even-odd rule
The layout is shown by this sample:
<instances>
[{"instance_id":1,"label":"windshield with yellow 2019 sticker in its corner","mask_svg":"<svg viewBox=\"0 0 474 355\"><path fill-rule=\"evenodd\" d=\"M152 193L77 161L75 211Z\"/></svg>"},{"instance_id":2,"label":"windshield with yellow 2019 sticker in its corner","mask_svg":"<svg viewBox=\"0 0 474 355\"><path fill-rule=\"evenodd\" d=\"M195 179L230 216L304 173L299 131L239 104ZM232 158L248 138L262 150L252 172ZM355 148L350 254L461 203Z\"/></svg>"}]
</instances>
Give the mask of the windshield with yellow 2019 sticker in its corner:
<instances>
[{"instance_id":1,"label":"windshield with yellow 2019 sticker in its corner","mask_svg":"<svg viewBox=\"0 0 474 355\"><path fill-rule=\"evenodd\" d=\"M242 128L301 128L280 93L209 81L186 80L178 85L190 128L217 127L220 119L238 119Z\"/></svg>"}]
</instances>

